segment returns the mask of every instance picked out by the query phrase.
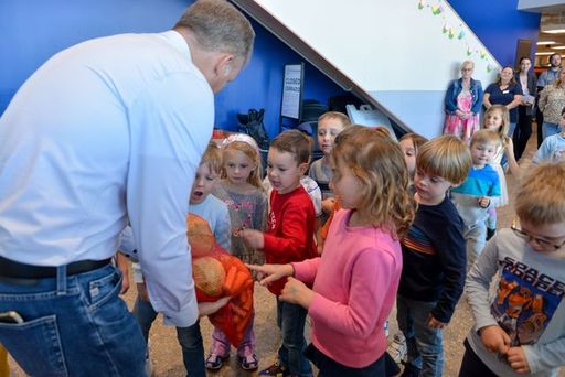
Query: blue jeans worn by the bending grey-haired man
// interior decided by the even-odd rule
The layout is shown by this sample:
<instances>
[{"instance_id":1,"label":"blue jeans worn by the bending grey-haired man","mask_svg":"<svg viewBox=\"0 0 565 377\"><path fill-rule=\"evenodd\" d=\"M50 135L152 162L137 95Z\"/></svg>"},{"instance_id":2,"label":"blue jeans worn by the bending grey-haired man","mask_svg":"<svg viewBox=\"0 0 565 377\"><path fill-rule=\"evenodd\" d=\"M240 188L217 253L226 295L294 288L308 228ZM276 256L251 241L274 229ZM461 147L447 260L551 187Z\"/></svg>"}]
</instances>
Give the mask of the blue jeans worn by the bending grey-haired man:
<instances>
[{"instance_id":1,"label":"blue jeans worn by the bending grey-haired man","mask_svg":"<svg viewBox=\"0 0 565 377\"><path fill-rule=\"evenodd\" d=\"M0 343L32 376L145 376L146 344L118 294L113 266L66 277L0 278L0 312L22 324L0 323Z\"/></svg>"}]
</instances>

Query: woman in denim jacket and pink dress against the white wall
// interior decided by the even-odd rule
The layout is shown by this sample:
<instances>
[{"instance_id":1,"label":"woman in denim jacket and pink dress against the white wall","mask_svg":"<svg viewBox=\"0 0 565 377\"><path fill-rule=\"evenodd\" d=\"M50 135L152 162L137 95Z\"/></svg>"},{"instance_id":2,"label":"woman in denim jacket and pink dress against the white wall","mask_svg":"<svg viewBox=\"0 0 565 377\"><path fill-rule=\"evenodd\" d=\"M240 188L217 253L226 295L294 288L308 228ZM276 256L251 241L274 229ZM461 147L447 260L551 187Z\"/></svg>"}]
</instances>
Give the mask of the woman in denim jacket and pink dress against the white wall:
<instances>
[{"instance_id":1,"label":"woman in denim jacket and pink dress against the white wall","mask_svg":"<svg viewBox=\"0 0 565 377\"><path fill-rule=\"evenodd\" d=\"M445 98L444 134L455 134L466 142L480 128L482 86L481 82L472 79L473 69L475 63L465 61L461 64L461 78L449 83Z\"/></svg>"}]
</instances>

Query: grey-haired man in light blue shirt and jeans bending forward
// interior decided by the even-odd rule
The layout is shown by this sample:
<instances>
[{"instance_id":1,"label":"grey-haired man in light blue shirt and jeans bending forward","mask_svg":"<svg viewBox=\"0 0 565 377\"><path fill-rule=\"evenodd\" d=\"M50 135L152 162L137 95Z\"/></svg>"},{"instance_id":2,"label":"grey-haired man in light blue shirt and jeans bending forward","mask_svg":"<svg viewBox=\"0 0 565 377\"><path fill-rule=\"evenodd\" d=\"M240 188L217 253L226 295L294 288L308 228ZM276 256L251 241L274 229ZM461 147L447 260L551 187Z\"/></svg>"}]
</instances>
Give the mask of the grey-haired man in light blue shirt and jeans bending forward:
<instances>
[{"instance_id":1,"label":"grey-haired man in light blue shirt and jeans bending forward","mask_svg":"<svg viewBox=\"0 0 565 377\"><path fill-rule=\"evenodd\" d=\"M131 224L154 309L189 326L198 305L189 191L212 134L214 93L255 33L224 0L173 30L70 47L0 118L0 343L29 375L143 376L145 341L109 265ZM14 320L15 321L15 320Z\"/></svg>"}]
</instances>

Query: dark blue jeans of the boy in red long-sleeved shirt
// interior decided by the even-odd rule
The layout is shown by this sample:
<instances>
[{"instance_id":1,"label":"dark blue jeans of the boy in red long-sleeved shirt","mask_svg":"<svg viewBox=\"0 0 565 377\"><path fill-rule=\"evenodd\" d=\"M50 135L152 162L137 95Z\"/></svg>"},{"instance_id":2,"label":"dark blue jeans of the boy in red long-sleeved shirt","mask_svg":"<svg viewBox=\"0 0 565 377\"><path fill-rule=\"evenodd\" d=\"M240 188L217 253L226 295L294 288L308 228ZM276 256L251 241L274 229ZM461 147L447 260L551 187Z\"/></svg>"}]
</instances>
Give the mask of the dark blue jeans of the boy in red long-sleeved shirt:
<instances>
[{"instance_id":1,"label":"dark blue jeans of the boy in red long-sleeved shirt","mask_svg":"<svg viewBox=\"0 0 565 377\"><path fill-rule=\"evenodd\" d=\"M312 376L312 368L306 358L305 322L307 311L300 305L280 301L277 298L277 325L282 334L278 348L278 360L288 367L294 376Z\"/></svg>"}]
</instances>

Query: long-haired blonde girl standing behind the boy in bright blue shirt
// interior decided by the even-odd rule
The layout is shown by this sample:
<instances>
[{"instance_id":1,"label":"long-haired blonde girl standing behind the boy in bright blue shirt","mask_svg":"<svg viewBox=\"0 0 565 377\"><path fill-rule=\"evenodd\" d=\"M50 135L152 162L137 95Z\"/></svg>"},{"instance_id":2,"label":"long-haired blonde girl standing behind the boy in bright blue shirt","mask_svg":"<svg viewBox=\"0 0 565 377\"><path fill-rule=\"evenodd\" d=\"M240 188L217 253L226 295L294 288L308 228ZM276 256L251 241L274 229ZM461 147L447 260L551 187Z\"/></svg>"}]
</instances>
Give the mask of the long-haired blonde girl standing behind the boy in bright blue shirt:
<instances>
[{"instance_id":1,"label":"long-haired blonde girl standing behind the boy in bright blue shirt","mask_svg":"<svg viewBox=\"0 0 565 377\"><path fill-rule=\"evenodd\" d=\"M510 128L510 116L504 105L492 105L484 111L482 118L482 128L495 131L500 134L501 147L498 149L494 158L490 162L490 165L497 171L500 181L500 200L498 206L504 206L509 203L508 201L508 187L507 177L504 175L504 169L502 168L502 158L505 155L510 172L519 176L520 166L518 165L516 159L514 158L514 143L512 138L508 137L508 130ZM487 234L488 238L492 237L497 229L497 209L489 209L489 219L487 222Z\"/></svg>"}]
</instances>

